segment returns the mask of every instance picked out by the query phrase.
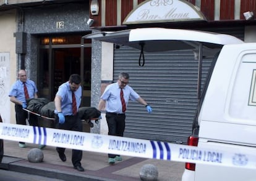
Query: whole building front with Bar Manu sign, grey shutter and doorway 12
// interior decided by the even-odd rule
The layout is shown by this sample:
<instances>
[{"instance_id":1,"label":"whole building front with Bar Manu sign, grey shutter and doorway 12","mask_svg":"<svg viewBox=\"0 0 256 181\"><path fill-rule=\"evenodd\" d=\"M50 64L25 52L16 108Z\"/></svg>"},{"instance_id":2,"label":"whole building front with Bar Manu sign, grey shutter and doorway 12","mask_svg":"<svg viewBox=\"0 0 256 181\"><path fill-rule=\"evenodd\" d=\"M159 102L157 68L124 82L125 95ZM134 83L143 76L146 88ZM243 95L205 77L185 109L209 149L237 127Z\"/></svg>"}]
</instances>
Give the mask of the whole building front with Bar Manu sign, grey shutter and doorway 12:
<instances>
[{"instance_id":1,"label":"whole building front with Bar Manu sign, grey shutter and doorway 12","mask_svg":"<svg viewBox=\"0 0 256 181\"><path fill-rule=\"evenodd\" d=\"M148 11L140 15L142 7ZM164 18L164 10L158 7L170 9ZM255 8L256 0L4 1L0 4L0 25L5 28L1 28L0 37L8 41L0 44L0 56L7 56L5 60L9 62L1 64L1 68L6 67L6 74L1 74L5 80L3 95L8 94L20 68L25 68L36 82L40 97L49 100L54 99L59 84L67 81L71 73L79 73L83 79L82 105L97 107L105 87L117 80L120 71L127 71L130 85L150 103L153 113L148 115L144 107L130 102L125 136L186 142L200 100L198 90L203 89L213 57L203 62L198 88L194 52L145 53L145 65L139 66L140 51L82 36L98 31L162 27L226 33L255 42ZM182 12L184 9L187 12ZM190 17L192 12L200 19ZM5 103L1 104L3 110L9 105L1 115L7 123L15 123L14 105L9 98ZM104 117L103 113L100 124L90 132L107 134Z\"/></svg>"}]
</instances>

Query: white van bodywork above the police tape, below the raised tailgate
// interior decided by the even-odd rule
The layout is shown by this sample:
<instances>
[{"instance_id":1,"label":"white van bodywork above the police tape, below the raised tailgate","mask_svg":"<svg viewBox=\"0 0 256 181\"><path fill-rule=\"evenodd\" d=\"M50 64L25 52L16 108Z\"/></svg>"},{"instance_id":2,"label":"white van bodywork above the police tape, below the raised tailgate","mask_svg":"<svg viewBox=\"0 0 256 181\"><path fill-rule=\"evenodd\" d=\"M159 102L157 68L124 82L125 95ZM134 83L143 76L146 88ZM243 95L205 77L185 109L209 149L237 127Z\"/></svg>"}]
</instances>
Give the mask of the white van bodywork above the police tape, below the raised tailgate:
<instances>
[{"instance_id":1,"label":"white van bodywork above the police tape, below the raised tailgate","mask_svg":"<svg viewBox=\"0 0 256 181\"><path fill-rule=\"evenodd\" d=\"M199 138L256 147L254 70L256 44L223 47L200 111Z\"/></svg>"}]
</instances>

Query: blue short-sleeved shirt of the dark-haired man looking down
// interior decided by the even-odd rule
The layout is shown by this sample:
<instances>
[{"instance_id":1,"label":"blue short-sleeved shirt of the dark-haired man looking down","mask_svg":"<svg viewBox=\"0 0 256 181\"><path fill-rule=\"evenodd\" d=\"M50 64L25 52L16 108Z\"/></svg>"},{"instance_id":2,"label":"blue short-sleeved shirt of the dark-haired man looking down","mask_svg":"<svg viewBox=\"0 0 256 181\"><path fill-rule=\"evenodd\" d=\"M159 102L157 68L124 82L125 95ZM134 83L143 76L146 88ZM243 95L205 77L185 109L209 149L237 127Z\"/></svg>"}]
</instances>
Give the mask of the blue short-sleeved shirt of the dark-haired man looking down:
<instances>
[{"instance_id":1,"label":"blue short-sleeved shirt of the dark-haired man looking down","mask_svg":"<svg viewBox=\"0 0 256 181\"><path fill-rule=\"evenodd\" d=\"M82 87L80 86L77 91L74 92L75 94L75 100L77 102L77 111L81 104L81 98L82 98ZM72 112L72 91L69 86L69 82L65 82L59 86L58 92L56 95L59 95L61 97L61 111L62 113L67 115L73 115ZM57 110L55 110L55 113L57 114Z\"/></svg>"}]
</instances>

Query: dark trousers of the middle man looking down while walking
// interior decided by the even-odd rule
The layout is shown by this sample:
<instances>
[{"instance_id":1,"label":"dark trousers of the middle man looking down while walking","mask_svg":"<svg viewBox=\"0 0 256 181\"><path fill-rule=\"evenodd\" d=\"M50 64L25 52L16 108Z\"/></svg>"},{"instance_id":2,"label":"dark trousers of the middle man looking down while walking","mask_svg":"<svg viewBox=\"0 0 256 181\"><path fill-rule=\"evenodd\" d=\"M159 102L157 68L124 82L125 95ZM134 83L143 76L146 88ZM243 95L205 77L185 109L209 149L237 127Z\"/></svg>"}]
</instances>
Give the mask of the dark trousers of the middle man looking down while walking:
<instances>
[{"instance_id":1,"label":"dark trousers of the middle man looking down while walking","mask_svg":"<svg viewBox=\"0 0 256 181\"><path fill-rule=\"evenodd\" d=\"M65 116L65 123L59 124L58 115L55 116L55 128L56 129L65 129L69 131L83 131L82 121L79 118L78 114L75 116ZM66 148L57 147L56 150L58 153L64 153ZM72 150L72 163L74 166L81 166L81 160L83 156L82 150Z\"/></svg>"}]
</instances>

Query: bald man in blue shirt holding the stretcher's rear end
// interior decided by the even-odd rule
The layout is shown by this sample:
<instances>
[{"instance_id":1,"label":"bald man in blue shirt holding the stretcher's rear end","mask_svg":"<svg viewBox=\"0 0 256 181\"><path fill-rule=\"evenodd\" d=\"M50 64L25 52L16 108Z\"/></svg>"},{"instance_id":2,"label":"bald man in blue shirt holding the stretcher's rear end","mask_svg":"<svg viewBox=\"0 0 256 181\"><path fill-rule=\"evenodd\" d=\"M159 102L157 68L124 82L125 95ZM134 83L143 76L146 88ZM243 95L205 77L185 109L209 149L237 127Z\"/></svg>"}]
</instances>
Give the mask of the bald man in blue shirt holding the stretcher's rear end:
<instances>
[{"instance_id":1,"label":"bald man in blue shirt holding the stretcher's rear end","mask_svg":"<svg viewBox=\"0 0 256 181\"><path fill-rule=\"evenodd\" d=\"M11 102L15 103L16 123L26 125L28 112L23 110L23 108L27 108L24 88L27 88L27 99L38 98L38 90L35 82L27 78L27 72L25 70L20 70L18 73L18 80L12 85L11 91L9 92L9 97ZM36 115L30 114L28 122L30 126L38 126L38 119ZM26 145L24 142L19 142L19 147L25 148Z\"/></svg>"}]
</instances>

